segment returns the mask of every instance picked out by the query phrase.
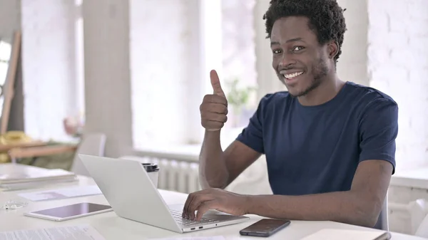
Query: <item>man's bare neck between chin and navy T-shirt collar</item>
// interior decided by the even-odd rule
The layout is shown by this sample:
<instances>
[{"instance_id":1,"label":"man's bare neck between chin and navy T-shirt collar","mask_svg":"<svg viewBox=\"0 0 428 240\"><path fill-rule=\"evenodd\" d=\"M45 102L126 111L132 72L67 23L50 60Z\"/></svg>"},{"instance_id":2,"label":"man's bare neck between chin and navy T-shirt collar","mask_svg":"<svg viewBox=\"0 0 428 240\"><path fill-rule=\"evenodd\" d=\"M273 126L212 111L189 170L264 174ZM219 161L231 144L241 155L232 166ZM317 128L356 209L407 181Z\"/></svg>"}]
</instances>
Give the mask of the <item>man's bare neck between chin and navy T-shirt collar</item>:
<instances>
[{"instance_id":1,"label":"man's bare neck between chin and navy T-shirt collar","mask_svg":"<svg viewBox=\"0 0 428 240\"><path fill-rule=\"evenodd\" d=\"M298 97L299 103L305 106L321 105L335 98L340 92L345 82L340 80L336 74L326 76L321 84L304 96Z\"/></svg>"}]
</instances>

